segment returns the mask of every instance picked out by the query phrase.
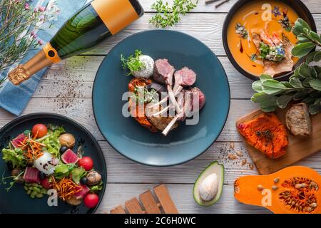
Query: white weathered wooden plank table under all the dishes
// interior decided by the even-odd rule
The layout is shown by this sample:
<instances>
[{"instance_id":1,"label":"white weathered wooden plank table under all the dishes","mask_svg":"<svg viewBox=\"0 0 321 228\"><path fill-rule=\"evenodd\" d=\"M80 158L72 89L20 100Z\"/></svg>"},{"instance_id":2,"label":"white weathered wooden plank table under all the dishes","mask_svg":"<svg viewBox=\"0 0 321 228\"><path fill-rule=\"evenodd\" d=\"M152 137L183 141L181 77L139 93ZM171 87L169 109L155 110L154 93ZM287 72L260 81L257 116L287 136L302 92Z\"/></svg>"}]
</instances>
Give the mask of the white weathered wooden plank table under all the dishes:
<instances>
[{"instance_id":1,"label":"white weathered wooden plank table under all the dishes","mask_svg":"<svg viewBox=\"0 0 321 228\"><path fill-rule=\"evenodd\" d=\"M153 16L151 4L153 0L140 0L146 14L125 31L118 33L98 46L90 53L69 58L51 66L42 79L38 90L34 93L24 114L36 112L59 113L66 115L84 125L98 140L106 157L108 184L103 202L98 212L109 212L127 199L136 197L159 183L165 183L180 213L269 213L265 209L240 204L233 197L233 182L243 175L257 175L248 165L242 166L241 160L229 160L230 142L234 142L235 150L243 151L243 159L250 162L243 142L235 129L235 120L251 110L258 108L249 100L253 94L249 79L243 77L231 65L225 56L222 43L222 27L225 16L236 0L230 0L218 9L214 5L205 5L200 0L198 7L173 29L188 33L209 46L223 63L231 89L230 115L218 140L200 157L183 165L174 167L148 167L126 159L113 150L99 132L91 108L91 90L96 71L104 56L123 38L138 31L152 28L148 20ZM305 0L312 11L321 31L321 1ZM72 86L71 86L72 85ZM0 126L5 125L15 116L0 110ZM225 165L225 183L223 196L213 207L199 207L195 204L192 189L200 172L212 160ZM296 165L312 167L321 173L321 152L315 153Z\"/></svg>"}]
</instances>

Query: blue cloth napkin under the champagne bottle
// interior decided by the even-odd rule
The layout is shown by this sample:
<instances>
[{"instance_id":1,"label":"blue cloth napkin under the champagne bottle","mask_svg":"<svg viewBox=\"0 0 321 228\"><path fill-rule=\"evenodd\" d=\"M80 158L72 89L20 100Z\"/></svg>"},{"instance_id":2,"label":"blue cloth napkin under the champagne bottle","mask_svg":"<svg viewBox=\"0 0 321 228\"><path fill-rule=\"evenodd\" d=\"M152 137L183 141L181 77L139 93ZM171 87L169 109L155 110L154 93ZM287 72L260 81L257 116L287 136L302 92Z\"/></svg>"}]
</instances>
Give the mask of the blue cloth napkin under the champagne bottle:
<instances>
[{"instance_id":1,"label":"blue cloth napkin under the champagne bottle","mask_svg":"<svg viewBox=\"0 0 321 228\"><path fill-rule=\"evenodd\" d=\"M29 1L30 9L34 9L34 6L46 6L48 1L53 0L34 0ZM60 13L57 15L54 21L51 21L54 24L53 28L48 28L46 30L39 30L36 33L37 38L39 38L43 43L47 43L51 40L54 34L58 31L58 29L63 25L65 21L68 20L70 16L72 16L78 9L86 4L87 0L56 0L56 6L60 10ZM42 47L39 47L41 49ZM38 50L28 51L27 56L21 61L21 63L25 63L31 57L33 57ZM19 63L16 63L14 66L9 68L9 70L0 72L0 81L5 78L6 75L12 69L16 68ZM21 115L24 108L28 104L31 96L34 94L41 76L44 75L46 69L39 71L36 75L32 76L29 80L22 83L20 86L12 85L8 80L4 81L4 83L0 86L0 107L8 110L10 113L14 115Z\"/></svg>"}]
</instances>

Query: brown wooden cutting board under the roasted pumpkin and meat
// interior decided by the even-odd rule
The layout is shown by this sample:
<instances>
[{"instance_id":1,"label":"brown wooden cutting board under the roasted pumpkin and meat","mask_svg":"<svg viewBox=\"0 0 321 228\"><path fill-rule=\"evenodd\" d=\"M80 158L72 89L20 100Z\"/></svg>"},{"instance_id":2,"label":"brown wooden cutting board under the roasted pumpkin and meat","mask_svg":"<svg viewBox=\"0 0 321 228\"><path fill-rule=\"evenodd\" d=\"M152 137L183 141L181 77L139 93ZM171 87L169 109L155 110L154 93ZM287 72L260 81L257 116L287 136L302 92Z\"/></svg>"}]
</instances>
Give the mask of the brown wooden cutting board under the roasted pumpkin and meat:
<instances>
[{"instance_id":1,"label":"brown wooden cutting board under the roasted pumpkin and meat","mask_svg":"<svg viewBox=\"0 0 321 228\"><path fill-rule=\"evenodd\" d=\"M284 125L286 111L287 109L279 109L275 111L275 114ZM248 120L253 120L253 118L257 117L261 113L263 113L262 110L255 110L253 113L245 115L243 118L240 118L238 121L236 121L236 125ZM312 136L306 138L294 136L288 133L289 145L286 149L286 153L284 156L278 159L270 159L264 155L263 152L260 152L259 150L255 149L255 147L252 147L245 142L245 145L248 149L248 154L252 158L260 174L267 175L272 172L276 172L321 150L321 113L312 115L311 120L313 131Z\"/></svg>"}]
</instances>

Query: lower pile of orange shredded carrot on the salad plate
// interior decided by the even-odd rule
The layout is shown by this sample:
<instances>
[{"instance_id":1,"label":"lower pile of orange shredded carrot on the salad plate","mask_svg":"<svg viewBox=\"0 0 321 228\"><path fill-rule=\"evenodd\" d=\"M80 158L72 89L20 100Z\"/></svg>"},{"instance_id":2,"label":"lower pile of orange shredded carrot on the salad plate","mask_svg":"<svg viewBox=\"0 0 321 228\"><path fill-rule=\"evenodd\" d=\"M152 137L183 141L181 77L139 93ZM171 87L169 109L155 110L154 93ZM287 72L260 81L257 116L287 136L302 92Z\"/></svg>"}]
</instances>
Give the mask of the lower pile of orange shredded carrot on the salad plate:
<instances>
[{"instance_id":1,"label":"lower pile of orange shredded carrot on the salad plate","mask_svg":"<svg viewBox=\"0 0 321 228\"><path fill-rule=\"evenodd\" d=\"M73 195L81 191L81 188L79 188L75 182L66 177L63 177L63 179L61 179L59 182L56 182L55 177L51 177L51 182L54 189L58 193L58 197L63 199L63 201L71 199Z\"/></svg>"}]
</instances>

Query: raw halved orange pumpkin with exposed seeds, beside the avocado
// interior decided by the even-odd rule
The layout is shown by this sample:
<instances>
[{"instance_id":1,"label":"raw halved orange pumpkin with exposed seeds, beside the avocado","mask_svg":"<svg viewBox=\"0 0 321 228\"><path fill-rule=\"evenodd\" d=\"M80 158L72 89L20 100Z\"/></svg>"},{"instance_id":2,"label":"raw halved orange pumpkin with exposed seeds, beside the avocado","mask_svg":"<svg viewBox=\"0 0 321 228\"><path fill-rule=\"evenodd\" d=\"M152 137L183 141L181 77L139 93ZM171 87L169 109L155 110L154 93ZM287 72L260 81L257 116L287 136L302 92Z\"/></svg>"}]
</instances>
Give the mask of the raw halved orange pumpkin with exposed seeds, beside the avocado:
<instances>
[{"instance_id":1,"label":"raw halved orange pumpkin with exposed seeds, beside the avocado","mask_svg":"<svg viewBox=\"0 0 321 228\"><path fill-rule=\"evenodd\" d=\"M276 214L320 214L321 176L309 167L292 166L270 175L235 180L234 197Z\"/></svg>"}]
</instances>

